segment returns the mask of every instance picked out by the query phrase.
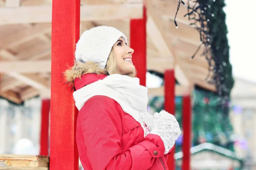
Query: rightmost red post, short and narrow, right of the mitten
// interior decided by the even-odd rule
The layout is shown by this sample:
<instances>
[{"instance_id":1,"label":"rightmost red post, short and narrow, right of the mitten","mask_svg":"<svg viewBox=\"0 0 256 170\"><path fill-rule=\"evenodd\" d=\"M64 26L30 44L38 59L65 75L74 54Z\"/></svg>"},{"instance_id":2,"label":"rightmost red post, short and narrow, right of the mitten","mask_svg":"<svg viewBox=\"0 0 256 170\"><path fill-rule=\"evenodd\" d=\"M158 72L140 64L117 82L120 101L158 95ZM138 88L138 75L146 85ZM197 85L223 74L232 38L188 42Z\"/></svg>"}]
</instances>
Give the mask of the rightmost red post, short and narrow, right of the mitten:
<instances>
[{"instance_id":1,"label":"rightmost red post, short and narrow, right of the mitten","mask_svg":"<svg viewBox=\"0 0 256 170\"><path fill-rule=\"evenodd\" d=\"M183 96L182 106L182 125L183 125L183 144L182 144L182 170L190 170L190 147L191 147L191 100L190 96Z\"/></svg>"}]
</instances>

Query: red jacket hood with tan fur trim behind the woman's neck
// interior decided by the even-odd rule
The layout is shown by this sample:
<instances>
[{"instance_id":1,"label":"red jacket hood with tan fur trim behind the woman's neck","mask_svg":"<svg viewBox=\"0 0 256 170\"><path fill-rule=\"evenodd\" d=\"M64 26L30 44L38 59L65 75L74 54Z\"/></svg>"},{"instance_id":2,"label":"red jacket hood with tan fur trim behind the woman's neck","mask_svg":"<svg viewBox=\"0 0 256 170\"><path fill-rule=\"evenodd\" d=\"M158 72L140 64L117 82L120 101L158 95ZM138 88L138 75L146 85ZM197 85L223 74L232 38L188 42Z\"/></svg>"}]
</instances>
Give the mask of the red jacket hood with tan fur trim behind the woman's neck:
<instances>
[{"instance_id":1,"label":"red jacket hood with tan fur trim behind the woman's neck","mask_svg":"<svg viewBox=\"0 0 256 170\"><path fill-rule=\"evenodd\" d=\"M66 83L70 84L76 90L100 79L104 79L107 76L107 69L100 68L95 62L82 63L75 61L73 67L68 68L64 72Z\"/></svg>"}]
</instances>

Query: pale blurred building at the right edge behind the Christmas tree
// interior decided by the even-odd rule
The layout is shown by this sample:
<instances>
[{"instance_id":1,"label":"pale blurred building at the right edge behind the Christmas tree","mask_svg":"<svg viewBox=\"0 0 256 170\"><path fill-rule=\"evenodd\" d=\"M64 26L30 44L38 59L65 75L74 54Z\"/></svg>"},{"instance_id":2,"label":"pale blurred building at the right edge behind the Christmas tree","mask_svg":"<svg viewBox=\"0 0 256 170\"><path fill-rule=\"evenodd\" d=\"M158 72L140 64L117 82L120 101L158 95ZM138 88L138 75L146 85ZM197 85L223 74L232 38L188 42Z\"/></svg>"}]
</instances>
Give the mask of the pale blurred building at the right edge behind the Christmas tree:
<instances>
[{"instance_id":1,"label":"pale blurred building at the right edge behind the Christmas tree","mask_svg":"<svg viewBox=\"0 0 256 170\"><path fill-rule=\"evenodd\" d=\"M256 83L235 78L231 99L236 153L245 160L246 170L256 170Z\"/></svg>"}]
</instances>

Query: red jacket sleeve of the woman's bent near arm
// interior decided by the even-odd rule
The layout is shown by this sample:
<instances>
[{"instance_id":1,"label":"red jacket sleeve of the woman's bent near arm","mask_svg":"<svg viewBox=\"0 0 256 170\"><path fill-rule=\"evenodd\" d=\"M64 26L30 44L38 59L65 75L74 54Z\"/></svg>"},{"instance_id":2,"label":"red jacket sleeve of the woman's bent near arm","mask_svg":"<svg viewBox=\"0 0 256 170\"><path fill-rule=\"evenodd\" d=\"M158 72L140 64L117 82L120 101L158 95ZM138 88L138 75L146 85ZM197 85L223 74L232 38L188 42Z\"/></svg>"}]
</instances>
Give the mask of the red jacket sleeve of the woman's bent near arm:
<instances>
[{"instance_id":1,"label":"red jacket sleeve of the woman's bent near arm","mask_svg":"<svg viewBox=\"0 0 256 170\"><path fill-rule=\"evenodd\" d=\"M93 170L148 170L163 156L160 136L148 134L143 142L122 152L122 122L115 105L103 97L90 99L80 110L82 133ZM155 156L154 153L157 155Z\"/></svg>"}]
</instances>

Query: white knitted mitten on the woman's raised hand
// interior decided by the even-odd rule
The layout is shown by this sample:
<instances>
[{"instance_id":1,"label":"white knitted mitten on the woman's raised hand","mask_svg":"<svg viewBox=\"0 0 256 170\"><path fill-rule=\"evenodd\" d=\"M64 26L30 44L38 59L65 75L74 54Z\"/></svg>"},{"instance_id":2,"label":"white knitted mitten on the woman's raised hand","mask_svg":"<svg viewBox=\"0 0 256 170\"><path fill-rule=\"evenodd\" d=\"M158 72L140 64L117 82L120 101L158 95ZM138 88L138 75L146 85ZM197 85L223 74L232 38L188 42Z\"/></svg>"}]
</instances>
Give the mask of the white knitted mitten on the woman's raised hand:
<instances>
[{"instance_id":1,"label":"white knitted mitten on the woman's raised hand","mask_svg":"<svg viewBox=\"0 0 256 170\"><path fill-rule=\"evenodd\" d=\"M165 154L174 146L180 136L180 126L175 116L162 110L154 113L154 122L149 133L160 136L165 147Z\"/></svg>"}]
</instances>

